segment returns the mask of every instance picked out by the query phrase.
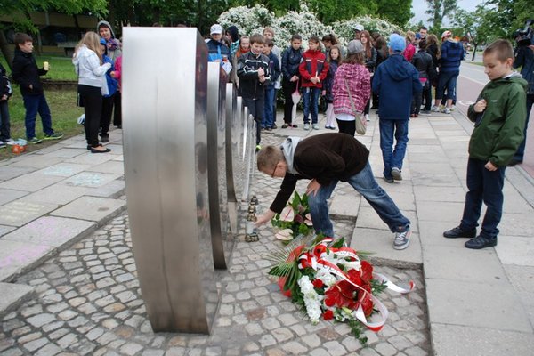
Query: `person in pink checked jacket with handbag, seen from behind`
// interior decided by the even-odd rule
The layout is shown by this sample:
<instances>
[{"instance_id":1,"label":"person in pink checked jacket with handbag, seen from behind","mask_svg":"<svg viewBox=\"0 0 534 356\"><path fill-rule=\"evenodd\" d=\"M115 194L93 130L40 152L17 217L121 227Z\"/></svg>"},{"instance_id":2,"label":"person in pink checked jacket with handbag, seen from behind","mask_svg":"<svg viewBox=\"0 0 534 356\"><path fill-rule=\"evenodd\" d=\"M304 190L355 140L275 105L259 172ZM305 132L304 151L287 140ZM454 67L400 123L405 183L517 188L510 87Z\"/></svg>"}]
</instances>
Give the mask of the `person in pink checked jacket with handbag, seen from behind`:
<instances>
[{"instance_id":1,"label":"person in pink checked jacket with handbag, seen from behind","mask_svg":"<svg viewBox=\"0 0 534 356\"><path fill-rule=\"evenodd\" d=\"M359 40L347 46L347 58L334 77L334 113L339 132L365 134L363 110L371 96L371 77L365 66L365 48Z\"/></svg>"}]
</instances>

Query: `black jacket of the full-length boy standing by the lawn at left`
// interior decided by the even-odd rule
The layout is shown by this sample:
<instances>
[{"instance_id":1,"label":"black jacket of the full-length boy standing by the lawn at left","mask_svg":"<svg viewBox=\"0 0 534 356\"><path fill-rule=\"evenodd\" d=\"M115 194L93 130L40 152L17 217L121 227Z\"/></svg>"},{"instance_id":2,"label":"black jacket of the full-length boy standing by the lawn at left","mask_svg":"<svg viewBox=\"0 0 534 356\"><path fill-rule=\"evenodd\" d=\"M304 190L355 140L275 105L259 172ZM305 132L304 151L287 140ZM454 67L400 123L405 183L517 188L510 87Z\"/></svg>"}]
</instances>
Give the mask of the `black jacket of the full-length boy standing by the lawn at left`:
<instances>
[{"instance_id":1,"label":"black jacket of the full-length boy standing by the lawn at left","mask_svg":"<svg viewBox=\"0 0 534 356\"><path fill-rule=\"evenodd\" d=\"M17 46L12 69L13 81L20 85L22 95L43 93L43 84L39 76L44 76L48 71L37 68L36 59L32 53L24 53ZM32 85L31 89L29 85Z\"/></svg>"}]
</instances>

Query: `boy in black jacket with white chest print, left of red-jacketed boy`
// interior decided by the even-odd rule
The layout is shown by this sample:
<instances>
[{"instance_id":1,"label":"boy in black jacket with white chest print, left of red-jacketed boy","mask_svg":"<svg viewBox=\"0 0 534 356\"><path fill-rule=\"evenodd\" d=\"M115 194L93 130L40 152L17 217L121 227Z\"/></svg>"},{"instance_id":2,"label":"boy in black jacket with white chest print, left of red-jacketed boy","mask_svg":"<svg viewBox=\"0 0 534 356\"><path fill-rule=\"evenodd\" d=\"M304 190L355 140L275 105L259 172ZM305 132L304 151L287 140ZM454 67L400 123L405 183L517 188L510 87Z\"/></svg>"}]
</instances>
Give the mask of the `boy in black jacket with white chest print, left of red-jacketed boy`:
<instances>
[{"instance_id":1,"label":"boy in black jacket with white chest print, left of red-jacketed boy","mask_svg":"<svg viewBox=\"0 0 534 356\"><path fill-rule=\"evenodd\" d=\"M262 147L262 121L265 110L265 87L271 85L269 57L263 54L263 36L250 37L250 52L242 54L238 62L239 95L256 122L256 152Z\"/></svg>"}]
</instances>

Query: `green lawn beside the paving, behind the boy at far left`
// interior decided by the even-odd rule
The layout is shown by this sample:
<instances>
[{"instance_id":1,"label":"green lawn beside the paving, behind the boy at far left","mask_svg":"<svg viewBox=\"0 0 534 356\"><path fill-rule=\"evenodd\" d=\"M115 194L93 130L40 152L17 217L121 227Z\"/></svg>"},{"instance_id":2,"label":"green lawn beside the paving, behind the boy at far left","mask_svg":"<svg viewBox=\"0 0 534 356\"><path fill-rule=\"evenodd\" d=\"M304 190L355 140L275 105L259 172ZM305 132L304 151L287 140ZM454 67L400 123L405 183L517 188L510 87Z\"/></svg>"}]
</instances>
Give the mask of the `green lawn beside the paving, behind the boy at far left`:
<instances>
[{"instance_id":1,"label":"green lawn beside the paving, behind the boy at far left","mask_svg":"<svg viewBox=\"0 0 534 356\"><path fill-rule=\"evenodd\" d=\"M24 109L24 103L22 101L22 95L17 85L13 85L13 95L9 100L9 114L11 122L11 136L13 140L19 138L26 139L26 128L24 125L24 115L26 110ZM44 91L46 101L50 106L52 112L52 127L56 133L65 134L63 139L84 132L84 126L77 124L77 117L84 112L83 108L77 107L77 92L76 90L48 90ZM41 117L36 117L36 135L39 138L44 137L43 125L41 125ZM31 152L34 150L43 149L50 146L57 141L44 141L40 144L29 144L26 146L26 151ZM25 154L25 153L22 153ZM0 161L13 158L15 156L11 151L11 146L7 146L5 149L0 149Z\"/></svg>"}]
</instances>

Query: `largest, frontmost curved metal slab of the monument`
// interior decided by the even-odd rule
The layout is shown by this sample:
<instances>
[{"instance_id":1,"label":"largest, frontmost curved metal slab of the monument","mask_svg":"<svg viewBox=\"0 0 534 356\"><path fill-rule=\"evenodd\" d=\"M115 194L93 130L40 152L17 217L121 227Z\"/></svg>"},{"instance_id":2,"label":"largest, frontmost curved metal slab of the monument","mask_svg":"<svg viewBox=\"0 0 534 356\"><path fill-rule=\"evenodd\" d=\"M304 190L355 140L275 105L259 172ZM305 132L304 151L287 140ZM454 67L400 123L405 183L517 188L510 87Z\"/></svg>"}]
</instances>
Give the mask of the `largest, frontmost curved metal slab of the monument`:
<instances>
[{"instance_id":1,"label":"largest, frontmost curved metal slab of the monument","mask_svg":"<svg viewBox=\"0 0 534 356\"><path fill-rule=\"evenodd\" d=\"M142 297L154 331L208 333L219 300L206 44L195 28L125 27L123 53L126 195Z\"/></svg>"}]
</instances>

